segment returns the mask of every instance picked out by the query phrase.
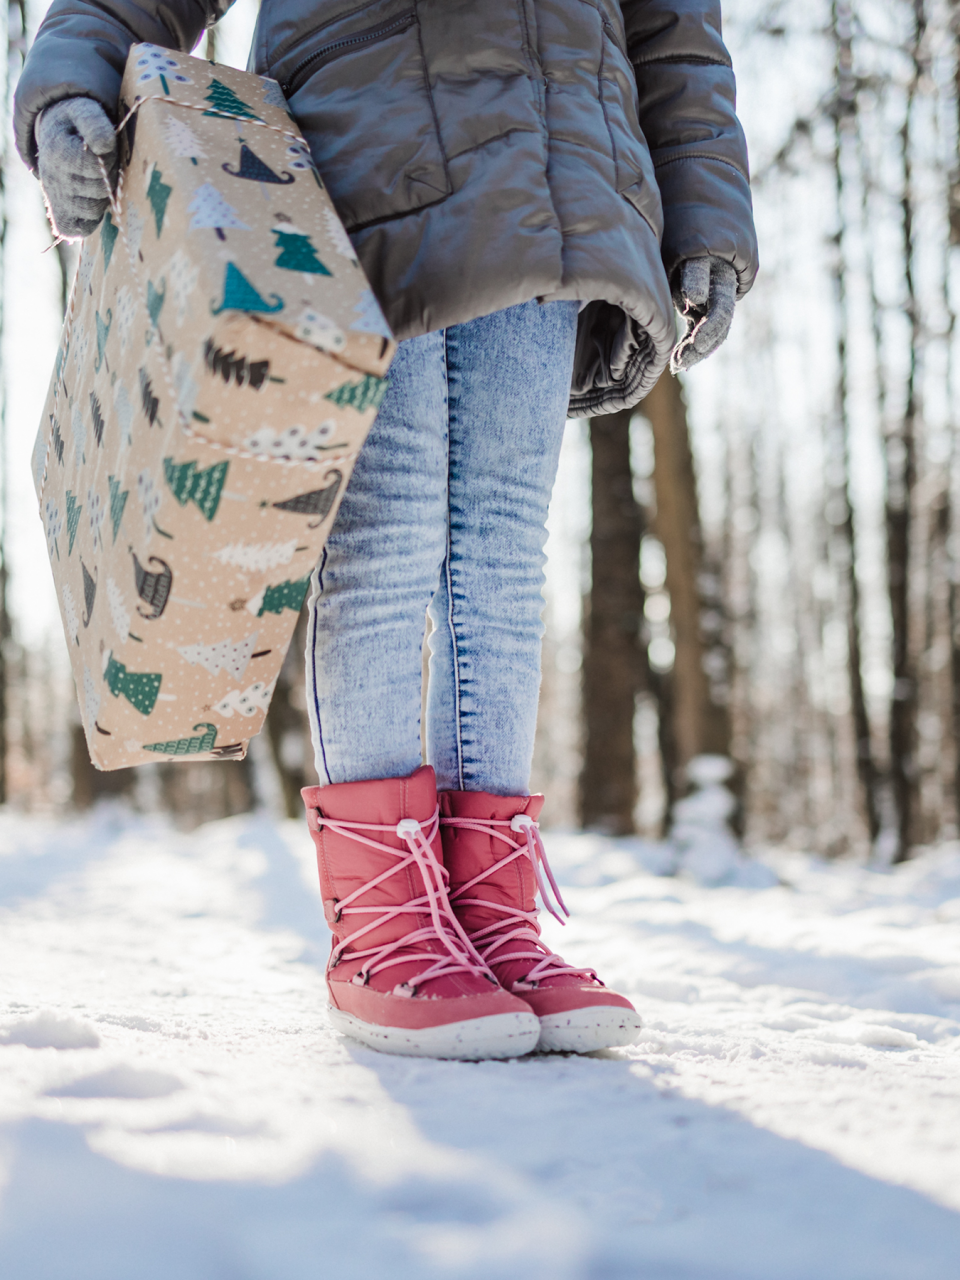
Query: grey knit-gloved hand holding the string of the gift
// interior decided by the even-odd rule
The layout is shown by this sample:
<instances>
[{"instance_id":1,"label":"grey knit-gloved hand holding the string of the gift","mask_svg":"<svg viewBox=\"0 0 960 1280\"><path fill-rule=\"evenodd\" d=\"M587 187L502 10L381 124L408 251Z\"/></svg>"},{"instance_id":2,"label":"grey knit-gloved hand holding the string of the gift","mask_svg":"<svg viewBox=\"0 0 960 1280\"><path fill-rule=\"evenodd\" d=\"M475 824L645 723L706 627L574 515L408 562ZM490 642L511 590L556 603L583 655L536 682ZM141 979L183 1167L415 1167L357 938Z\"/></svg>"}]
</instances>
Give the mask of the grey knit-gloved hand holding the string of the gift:
<instances>
[{"instance_id":1,"label":"grey knit-gloved hand holding the string of the gift","mask_svg":"<svg viewBox=\"0 0 960 1280\"><path fill-rule=\"evenodd\" d=\"M92 97L68 97L40 113L36 127L37 168L55 236L90 236L108 209L108 192L97 159L116 184L116 133L106 111Z\"/></svg>"}]
</instances>

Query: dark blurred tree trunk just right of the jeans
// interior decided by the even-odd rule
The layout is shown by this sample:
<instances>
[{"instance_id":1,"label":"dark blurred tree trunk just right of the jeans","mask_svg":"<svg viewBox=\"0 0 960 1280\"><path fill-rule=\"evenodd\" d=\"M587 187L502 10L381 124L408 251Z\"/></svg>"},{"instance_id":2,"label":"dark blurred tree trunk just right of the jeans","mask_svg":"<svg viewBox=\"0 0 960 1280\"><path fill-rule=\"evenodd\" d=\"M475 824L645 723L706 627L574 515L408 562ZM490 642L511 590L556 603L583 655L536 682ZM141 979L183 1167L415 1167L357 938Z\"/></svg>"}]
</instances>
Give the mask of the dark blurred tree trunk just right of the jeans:
<instances>
[{"instance_id":1,"label":"dark blurred tree trunk just right of the jeans","mask_svg":"<svg viewBox=\"0 0 960 1280\"><path fill-rule=\"evenodd\" d=\"M580 817L585 827L611 835L634 831L634 712L645 667L640 641L644 518L630 470L631 417L626 410L590 420L593 585L584 617Z\"/></svg>"}]
</instances>

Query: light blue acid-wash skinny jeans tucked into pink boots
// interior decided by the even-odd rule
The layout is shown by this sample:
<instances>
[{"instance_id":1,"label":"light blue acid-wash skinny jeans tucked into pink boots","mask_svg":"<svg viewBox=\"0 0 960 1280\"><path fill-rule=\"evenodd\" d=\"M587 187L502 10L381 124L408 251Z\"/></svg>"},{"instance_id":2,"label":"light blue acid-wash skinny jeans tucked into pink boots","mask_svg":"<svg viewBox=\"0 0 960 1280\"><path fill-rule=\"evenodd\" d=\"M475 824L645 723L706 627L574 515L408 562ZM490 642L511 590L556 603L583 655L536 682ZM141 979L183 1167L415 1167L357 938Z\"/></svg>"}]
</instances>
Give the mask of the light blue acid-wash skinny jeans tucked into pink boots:
<instances>
[{"instance_id":1,"label":"light blue acid-wash skinny jeans tucked into pink boots","mask_svg":"<svg viewBox=\"0 0 960 1280\"><path fill-rule=\"evenodd\" d=\"M527 302L401 343L314 575L307 703L321 783L421 763L442 788L525 795L547 508L577 302Z\"/></svg>"}]
</instances>

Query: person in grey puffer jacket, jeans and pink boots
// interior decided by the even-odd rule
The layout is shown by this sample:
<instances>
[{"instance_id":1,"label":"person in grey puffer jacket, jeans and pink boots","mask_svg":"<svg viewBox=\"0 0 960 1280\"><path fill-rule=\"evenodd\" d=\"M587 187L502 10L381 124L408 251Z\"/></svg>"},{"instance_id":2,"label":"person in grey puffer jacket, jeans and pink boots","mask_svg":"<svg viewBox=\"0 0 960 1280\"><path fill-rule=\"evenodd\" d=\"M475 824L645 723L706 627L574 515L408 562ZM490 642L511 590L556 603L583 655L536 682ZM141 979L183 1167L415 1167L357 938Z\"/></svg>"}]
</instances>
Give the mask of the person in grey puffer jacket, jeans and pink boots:
<instances>
[{"instance_id":1,"label":"person in grey puffer jacket, jeans and pink boots","mask_svg":"<svg viewBox=\"0 0 960 1280\"><path fill-rule=\"evenodd\" d=\"M65 236L106 210L129 46L223 0L54 0L17 142ZM401 339L314 576L307 682L334 1025L389 1052L630 1043L562 916L527 794L544 522L567 413L687 369L756 271L718 0L262 0L284 90ZM420 680L430 678L421 765Z\"/></svg>"}]
</instances>

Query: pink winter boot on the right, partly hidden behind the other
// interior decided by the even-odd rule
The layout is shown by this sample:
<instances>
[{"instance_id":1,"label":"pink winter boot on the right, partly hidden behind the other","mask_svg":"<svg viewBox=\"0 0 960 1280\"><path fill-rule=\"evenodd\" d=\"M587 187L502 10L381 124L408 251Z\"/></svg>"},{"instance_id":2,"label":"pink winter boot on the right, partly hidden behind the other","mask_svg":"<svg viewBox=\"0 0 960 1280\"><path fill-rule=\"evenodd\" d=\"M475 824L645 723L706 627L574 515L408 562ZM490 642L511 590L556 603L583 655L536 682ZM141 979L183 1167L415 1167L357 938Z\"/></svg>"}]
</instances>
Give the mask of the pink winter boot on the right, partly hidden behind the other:
<instances>
[{"instance_id":1,"label":"pink winter boot on the right, partly hidden behind the other","mask_svg":"<svg viewBox=\"0 0 960 1280\"><path fill-rule=\"evenodd\" d=\"M536 890L561 923L567 915L536 818L543 796L442 791L443 860L457 919L504 991L540 1019L540 1050L589 1053L632 1044L640 1018L591 969L575 969L540 940ZM557 905L544 883L545 873Z\"/></svg>"}]
</instances>

